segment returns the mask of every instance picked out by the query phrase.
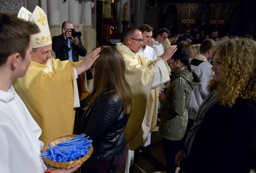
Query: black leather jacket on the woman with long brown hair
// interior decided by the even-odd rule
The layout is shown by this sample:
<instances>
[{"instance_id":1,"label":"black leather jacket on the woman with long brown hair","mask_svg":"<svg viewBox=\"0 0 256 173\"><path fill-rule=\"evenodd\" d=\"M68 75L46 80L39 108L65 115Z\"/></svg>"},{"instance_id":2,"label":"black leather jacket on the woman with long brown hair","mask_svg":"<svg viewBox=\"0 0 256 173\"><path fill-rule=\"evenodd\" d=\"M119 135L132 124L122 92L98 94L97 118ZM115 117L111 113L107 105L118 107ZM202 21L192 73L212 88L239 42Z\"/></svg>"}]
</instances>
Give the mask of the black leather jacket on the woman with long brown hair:
<instances>
[{"instance_id":1,"label":"black leather jacket on the woman with long brown hair","mask_svg":"<svg viewBox=\"0 0 256 173\"><path fill-rule=\"evenodd\" d=\"M88 160L102 162L120 157L126 148L123 129L130 113L125 114L123 103L115 93L98 96L89 109L82 110L89 99L90 96L81 100L77 109L78 132L93 141L93 153Z\"/></svg>"}]
</instances>

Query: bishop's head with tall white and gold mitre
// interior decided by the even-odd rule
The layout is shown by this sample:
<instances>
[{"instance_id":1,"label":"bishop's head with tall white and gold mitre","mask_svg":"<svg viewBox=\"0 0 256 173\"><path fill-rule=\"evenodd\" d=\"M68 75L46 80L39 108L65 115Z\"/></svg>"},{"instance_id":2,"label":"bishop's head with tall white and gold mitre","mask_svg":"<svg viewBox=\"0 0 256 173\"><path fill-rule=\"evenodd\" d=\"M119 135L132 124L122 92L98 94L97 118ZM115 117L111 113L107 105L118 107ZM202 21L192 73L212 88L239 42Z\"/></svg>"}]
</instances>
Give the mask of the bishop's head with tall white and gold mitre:
<instances>
[{"instance_id":1,"label":"bishop's head with tall white and gold mitre","mask_svg":"<svg viewBox=\"0 0 256 173\"><path fill-rule=\"evenodd\" d=\"M40 32L31 35L33 44L31 60L46 65L48 60L52 58L52 37L45 11L36 6L31 13L26 8L21 7L18 18L32 21L39 27Z\"/></svg>"}]
</instances>

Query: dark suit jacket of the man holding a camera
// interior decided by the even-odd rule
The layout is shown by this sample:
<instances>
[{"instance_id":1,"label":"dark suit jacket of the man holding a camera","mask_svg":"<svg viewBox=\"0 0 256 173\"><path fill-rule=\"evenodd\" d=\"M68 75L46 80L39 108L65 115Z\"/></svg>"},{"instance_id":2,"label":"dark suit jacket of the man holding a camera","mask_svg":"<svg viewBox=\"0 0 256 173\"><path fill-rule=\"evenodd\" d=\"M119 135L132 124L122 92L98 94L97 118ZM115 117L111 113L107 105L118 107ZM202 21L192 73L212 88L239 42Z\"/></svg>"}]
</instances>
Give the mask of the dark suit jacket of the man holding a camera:
<instances>
[{"instance_id":1,"label":"dark suit jacket of the man holding a camera","mask_svg":"<svg viewBox=\"0 0 256 173\"><path fill-rule=\"evenodd\" d=\"M52 37L53 41L53 51L55 52L56 58L60 59L61 61L69 60L69 47L67 45L67 40L65 39L64 35L58 35ZM71 41L71 47L72 47L72 56L73 56L73 62L78 61L79 55L82 57L86 56L86 49L82 45L81 38L78 38L78 44L74 44Z\"/></svg>"}]
</instances>

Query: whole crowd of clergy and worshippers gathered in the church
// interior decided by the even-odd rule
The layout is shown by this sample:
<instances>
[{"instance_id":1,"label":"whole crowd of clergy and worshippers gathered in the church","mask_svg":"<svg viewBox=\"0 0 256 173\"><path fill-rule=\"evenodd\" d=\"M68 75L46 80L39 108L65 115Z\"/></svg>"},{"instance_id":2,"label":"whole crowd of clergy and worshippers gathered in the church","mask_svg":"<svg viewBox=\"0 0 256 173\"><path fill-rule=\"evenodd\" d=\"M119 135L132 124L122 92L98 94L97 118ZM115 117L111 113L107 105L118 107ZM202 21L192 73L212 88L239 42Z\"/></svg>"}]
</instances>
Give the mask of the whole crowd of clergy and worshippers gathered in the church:
<instances>
[{"instance_id":1,"label":"whole crowd of clergy and worshippers gathered in the church","mask_svg":"<svg viewBox=\"0 0 256 173\"><path fill-rule=\"evenodd\" d=\"M153 37L143 24L128 27L123 42L86 55L70 21L51 38L38 6L33 13L22 7L18 17L0 14L0 28L1 171L74 172L80 165L50 168L40 152L57 136L85 133L94 152L82 173L129 173L134 151L150 144L159 112L167 173L177 165L188 173L249 173L256 163L251 37L219 38L213 30L208 38L197 28L181 37L160 28ZM92 75L93 90L79 100L82 73Z\"/></svg>"}]
</instances>

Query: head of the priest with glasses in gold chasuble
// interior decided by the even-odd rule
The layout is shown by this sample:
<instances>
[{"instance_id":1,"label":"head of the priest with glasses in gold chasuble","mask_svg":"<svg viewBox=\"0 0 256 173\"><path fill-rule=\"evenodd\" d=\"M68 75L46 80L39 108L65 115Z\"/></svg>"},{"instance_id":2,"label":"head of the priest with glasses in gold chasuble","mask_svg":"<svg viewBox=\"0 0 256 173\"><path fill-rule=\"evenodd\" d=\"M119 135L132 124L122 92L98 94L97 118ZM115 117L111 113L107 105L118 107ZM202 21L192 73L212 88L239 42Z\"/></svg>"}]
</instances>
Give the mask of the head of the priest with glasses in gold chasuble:
<instances>
[{"instance_id":1,"label":"head of the priest with glasses in gold chasuble","mask_svg":"<svg viewBox=\"0 0 256 173\"><path fill-rule=\"evenodd\" d=\"M137 27L129 27L125 30L123 44L134 53L139 52L143 46L142 31Z\"/></svg>"}]
</instances>

